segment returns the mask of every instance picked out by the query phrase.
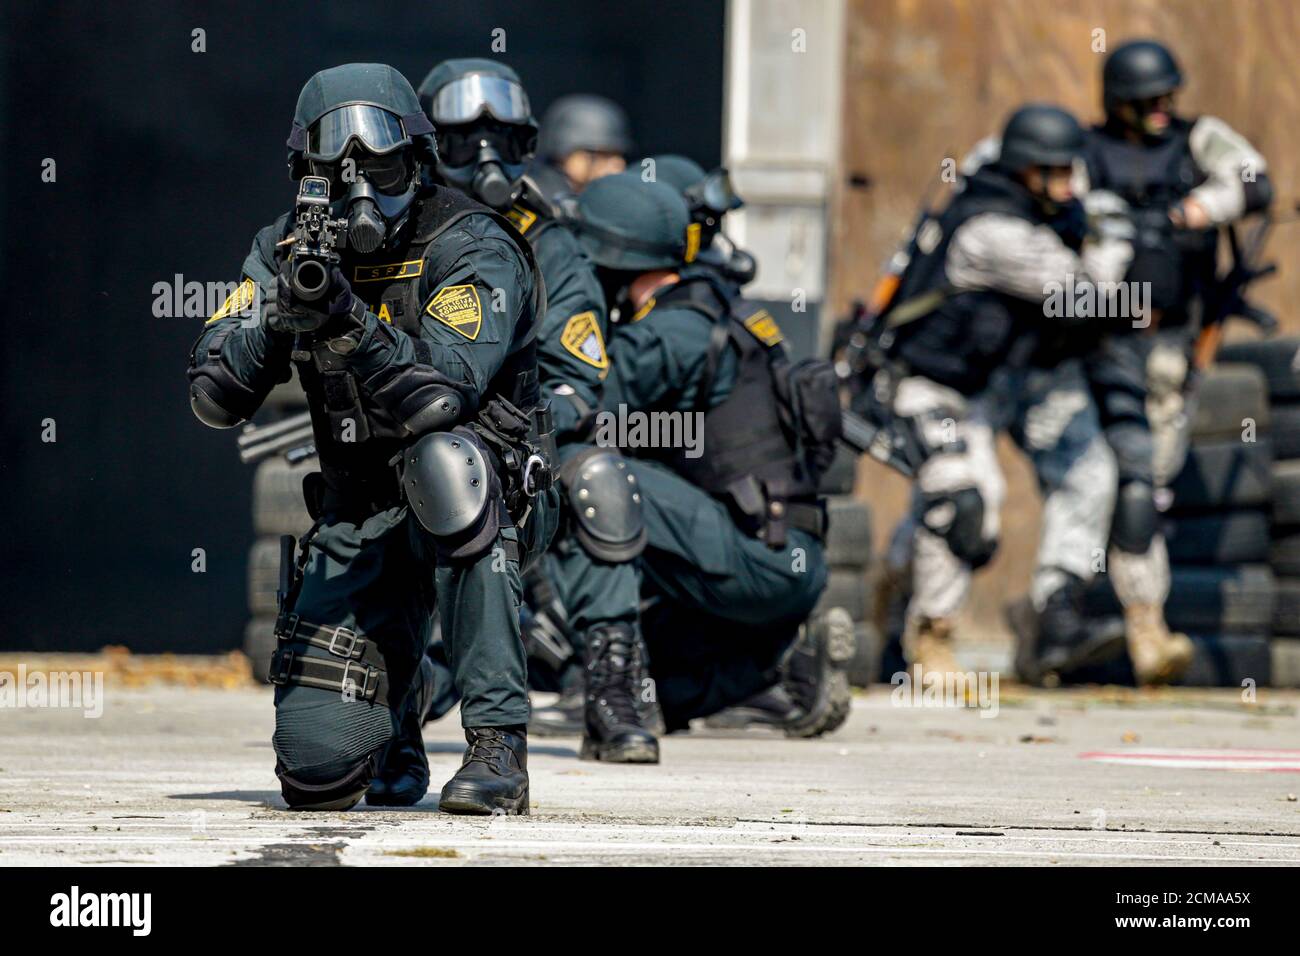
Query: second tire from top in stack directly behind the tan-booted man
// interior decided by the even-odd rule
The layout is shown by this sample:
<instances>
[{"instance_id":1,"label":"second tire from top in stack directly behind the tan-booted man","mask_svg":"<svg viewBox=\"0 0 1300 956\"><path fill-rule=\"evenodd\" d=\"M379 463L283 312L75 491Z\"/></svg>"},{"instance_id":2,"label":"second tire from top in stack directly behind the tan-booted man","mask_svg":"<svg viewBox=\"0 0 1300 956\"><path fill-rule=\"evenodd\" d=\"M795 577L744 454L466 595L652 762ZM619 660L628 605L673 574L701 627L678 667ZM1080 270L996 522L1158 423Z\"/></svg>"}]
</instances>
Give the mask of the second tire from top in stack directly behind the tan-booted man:
<instances>
[{"instance_id":1,"label":"second tire from top in stack directly behind the tan-booted man","mask_svg":"<svg viewBox=\"0 0 1300 956\"><path fill-rule=\"evenodd\" d=\"M1240 438L1192 445L1170 485L1170 514L1197 514L1235 507L1266 507L1273 498L1273 445L1268 438Z\"/></svg>"}]
</instances>

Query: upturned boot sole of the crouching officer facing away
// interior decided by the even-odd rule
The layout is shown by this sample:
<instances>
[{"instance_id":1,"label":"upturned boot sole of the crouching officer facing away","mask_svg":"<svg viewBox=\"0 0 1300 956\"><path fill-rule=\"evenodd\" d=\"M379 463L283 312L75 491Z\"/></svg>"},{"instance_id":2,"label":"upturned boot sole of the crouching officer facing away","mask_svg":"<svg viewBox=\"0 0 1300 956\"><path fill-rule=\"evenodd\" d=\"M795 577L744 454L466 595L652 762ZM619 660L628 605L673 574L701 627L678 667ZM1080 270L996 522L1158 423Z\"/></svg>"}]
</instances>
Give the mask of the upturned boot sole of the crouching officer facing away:
<instances>
[{"instance_id":1,"label":"upturned boot sole of the crouching officer facing away","mask_svg":"<svg viewBox=\"0 0 1300 956\"><path fill-rule=\"evenodd\" d=\"M849 719L853 691L849 662L857 649L853 618L842 607L814 614L781 662L781 687L796 711L785 721L785 736L819 737Z\"/></svg>"}]
</instances>

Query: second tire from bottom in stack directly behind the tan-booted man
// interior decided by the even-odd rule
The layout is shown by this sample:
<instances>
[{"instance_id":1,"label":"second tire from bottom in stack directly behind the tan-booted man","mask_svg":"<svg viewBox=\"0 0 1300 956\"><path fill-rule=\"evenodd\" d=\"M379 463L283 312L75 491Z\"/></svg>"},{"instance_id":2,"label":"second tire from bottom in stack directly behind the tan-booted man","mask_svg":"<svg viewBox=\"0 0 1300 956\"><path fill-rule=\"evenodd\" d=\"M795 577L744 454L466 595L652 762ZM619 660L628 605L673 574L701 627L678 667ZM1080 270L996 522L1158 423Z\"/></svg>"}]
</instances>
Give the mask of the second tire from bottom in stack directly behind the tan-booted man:
<instances>
[{"instance_id":1,"label":"second tire from bottom in stack directly behind the tan-booted man","mask_svg":"<svg viewBox=\"0 0 1300 956\"><path fill-rule=\"evenodd\" d=\"M1171 568L1165 620L1183 633L1268 635L1273 630L1277 596L1273 572L1265 564ZM1097 575L1086 601L1089 615L1119 613L1109 575Z\"/></svg>"}]
</instances>

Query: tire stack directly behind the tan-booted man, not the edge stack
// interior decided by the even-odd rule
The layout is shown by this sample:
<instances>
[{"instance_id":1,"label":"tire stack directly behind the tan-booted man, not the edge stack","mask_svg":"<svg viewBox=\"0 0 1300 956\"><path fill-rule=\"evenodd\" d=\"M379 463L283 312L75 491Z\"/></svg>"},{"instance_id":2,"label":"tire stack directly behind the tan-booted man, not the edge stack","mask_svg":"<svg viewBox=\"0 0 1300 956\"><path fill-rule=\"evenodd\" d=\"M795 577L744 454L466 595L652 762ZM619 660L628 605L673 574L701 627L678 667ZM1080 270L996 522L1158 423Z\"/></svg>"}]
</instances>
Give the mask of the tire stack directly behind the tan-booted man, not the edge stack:
<instances>
[{"instance_id":1,"label":"tire stack directly behind the tan-booted man, not the edge stack","mask_svg":"<svg viewBox=\"0 0 1300 956\"><path fill-rule=\"evenodd\" d=\"M1196 645L1180 683L1192 687L1266 685L1275 585L1269 568L1273 445L1264 376L1249 364L1208 369L1197 386L1191 447L1171 483L1161 529L1169 546L1165 619ZM1119 614L1106 575L1088 609ZM1132 683L1127 658L1076 679Z\"/></svg>"}]
</instances>

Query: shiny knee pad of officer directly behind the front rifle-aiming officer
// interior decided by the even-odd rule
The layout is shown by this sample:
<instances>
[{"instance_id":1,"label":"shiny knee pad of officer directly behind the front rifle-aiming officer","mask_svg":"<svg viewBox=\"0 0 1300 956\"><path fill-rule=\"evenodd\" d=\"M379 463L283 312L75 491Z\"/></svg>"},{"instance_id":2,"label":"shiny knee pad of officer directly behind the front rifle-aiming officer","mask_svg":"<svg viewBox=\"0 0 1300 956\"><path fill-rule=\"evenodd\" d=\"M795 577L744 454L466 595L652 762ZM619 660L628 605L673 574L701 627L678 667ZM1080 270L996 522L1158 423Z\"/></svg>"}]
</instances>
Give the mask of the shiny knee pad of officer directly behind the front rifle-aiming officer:
<instances>
[{"instance_id":1,"label":"shiny knee pad of officer directly behind the front rifle-aiming officer","mask_svg":"<svg viewBox=\"0 0 1300 956\"><path fill-rule=\"evenodd\" d=\"M560 483L575 536L588 554L624 562L645 550L641 489L623 455L602 447L581 451L564 463Z\"/></svg>"}]
</instances>

